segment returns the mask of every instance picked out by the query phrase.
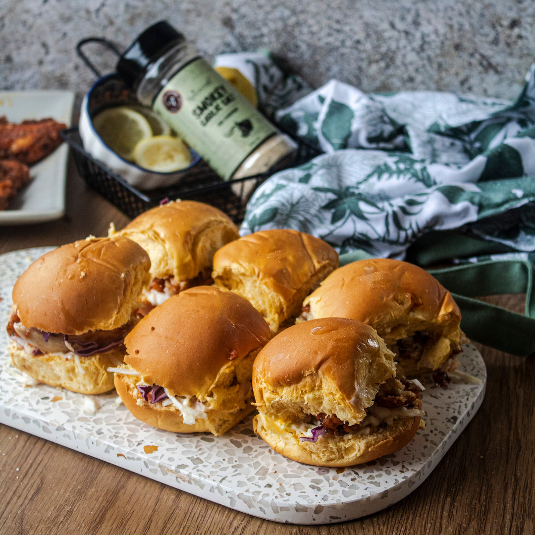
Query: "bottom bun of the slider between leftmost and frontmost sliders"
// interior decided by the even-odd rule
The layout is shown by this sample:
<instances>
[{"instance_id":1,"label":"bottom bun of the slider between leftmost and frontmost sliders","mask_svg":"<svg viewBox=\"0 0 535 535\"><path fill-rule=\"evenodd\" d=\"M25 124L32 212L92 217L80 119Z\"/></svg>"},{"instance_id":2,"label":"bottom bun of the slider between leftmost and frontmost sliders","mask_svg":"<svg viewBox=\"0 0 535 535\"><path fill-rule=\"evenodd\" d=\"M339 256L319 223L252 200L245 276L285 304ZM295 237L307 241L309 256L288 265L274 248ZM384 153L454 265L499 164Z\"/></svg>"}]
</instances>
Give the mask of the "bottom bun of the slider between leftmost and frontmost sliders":
<instances>
[{"instance_id":1,"label":"bottom bun of the slider between leftmost and frontmost sliders","mask_svg":"<svg viewBox=\"0 0 535 535\"><path fill-rule=\"evenodd\" d=\"M239 403L238 407L234 405L231 410L207 408L204 411L206 418L196 418L194 424L185 424L182 413L173 404L164 406L162 403L144 401L136 387L138 381L138 376L116 373L114 383L117 393L138 420L165 431L222 435L255 409L247 402Z\"/></svg>"}]
</instances>

